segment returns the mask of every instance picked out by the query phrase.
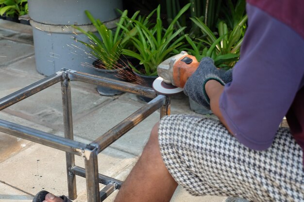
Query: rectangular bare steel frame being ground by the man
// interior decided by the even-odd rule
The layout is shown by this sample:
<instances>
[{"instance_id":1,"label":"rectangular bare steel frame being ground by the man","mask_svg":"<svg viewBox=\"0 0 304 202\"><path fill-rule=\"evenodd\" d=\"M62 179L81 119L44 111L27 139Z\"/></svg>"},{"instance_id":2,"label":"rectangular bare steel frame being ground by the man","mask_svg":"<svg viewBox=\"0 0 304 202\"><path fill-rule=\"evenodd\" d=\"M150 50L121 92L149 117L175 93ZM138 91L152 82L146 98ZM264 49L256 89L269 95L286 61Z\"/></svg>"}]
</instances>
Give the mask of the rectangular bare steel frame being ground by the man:
<instances>
[{"instance_id":1,"label":"rectangular bare steel frame being ground by the man","mask_svg":"<svg viewBox=\"0 0 304 202\"><path fill-rule=\"evenodd\" d=\"M128 118L114 126L90 144L73 140L73 121L71 108L70 80L109 87L128 93L153 98L152 101L135 111ZM0 99L0 110L38 93L55 83L61 82L63 122L65 137L59 137L34 128L11 123L0 119L0 131L22 139L34 141L66 152L68 196L71 200L77 198L76 175L86 178L87 202L101 202L113 191L119 189L122 181L98 173L97 155L106 147L118 140L122 135L139 124L157 109L160 118L170 113L170 98L157 95L152 88L131 84L115 79L98 77L69 69L61 71L39 80L15 93ZM84 157L85 169L75 165L75 155ZM99 190L99 183L106 185Z\"/></svg>"}]
</instances>

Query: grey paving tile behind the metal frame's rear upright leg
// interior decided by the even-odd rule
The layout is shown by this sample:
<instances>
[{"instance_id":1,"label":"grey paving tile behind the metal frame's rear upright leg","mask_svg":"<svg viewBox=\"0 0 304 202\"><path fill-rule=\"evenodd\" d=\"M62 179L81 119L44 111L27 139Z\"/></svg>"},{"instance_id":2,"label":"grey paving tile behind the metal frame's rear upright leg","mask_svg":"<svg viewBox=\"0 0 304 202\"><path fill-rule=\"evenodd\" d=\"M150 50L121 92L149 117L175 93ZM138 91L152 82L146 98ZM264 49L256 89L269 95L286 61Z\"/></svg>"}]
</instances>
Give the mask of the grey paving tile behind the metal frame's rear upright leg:
<instances>
[{"instance_id":1,"label":"grey paving tile behind the metal frame's rear upright leg","mask_svg":"<svg viewBox=\"0 0 304 202\"><path fill-rule=\"evenodd\" d=\"M0 97L14 93L37 80L39 79L29 78L29 75L2 71L0 72ZM5 85L3 85L4 83ZM87 92L73 87L71 88L71 95L74 119L82 117L83 113L94 110L102 103L113 99L112 97L101 96L97 92ZM61 86L60 83L57 83L4 109L4 111L53 129L63 128L61 96Z\"/></svg>"}]
</instances>

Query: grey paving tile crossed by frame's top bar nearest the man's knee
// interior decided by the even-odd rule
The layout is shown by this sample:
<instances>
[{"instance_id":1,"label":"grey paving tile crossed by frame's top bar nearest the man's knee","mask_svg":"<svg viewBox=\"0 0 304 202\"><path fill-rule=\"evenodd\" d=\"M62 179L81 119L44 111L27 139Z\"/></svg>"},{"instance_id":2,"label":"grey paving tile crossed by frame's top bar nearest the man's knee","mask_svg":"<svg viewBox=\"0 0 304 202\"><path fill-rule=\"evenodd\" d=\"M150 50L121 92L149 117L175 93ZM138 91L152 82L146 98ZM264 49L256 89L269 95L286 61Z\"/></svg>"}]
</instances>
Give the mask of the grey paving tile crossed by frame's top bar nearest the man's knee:
<instances>
[{"instance_id":1,"label":"grey paving tile crossed by frame's top bar nearest the man's knee","mask_svg":"<svg viewBox=\"0 0 304 202\"><path fill-rule=\"evenodd\" d=\"M74 134L86 140L95 140L110 130L120 121L134 113L142 105L135 105L121 100L115 100L94 112L87 114L74 123ZM119 150L139 155L149 138L153 125L159 120L159 112L154 112L142 123L135 126L127 134L111 146Z\"/></svg>"}]
</instances>

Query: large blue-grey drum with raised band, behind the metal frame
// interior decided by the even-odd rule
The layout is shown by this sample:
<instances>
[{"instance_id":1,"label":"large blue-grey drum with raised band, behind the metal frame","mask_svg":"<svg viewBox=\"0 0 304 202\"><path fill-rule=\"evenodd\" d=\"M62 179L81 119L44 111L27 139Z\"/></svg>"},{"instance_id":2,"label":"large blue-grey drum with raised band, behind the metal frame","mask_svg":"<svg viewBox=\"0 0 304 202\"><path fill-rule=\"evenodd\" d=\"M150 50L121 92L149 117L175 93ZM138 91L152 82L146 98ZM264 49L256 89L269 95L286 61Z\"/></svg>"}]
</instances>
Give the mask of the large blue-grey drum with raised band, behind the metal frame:
<instances>
[{"instance_id":1,"label":"large blue-grey drum with raised band, behind the metal frame","mask_svg":"<svg viewBox=\"0 0 304 202\"><path fill-rule=\"evenodd\" d=\"M88 66L94 60L86 54L90 50L75 41L89 43L89 38L71 25L96 32L84 13L88 10L109 29L114 29L118 22L116 9L122 9L122 0L28 0L28 5L33 27L36 70L46 76L62 68L93 74L95 71Z\"/></svg>"}]
</instances>

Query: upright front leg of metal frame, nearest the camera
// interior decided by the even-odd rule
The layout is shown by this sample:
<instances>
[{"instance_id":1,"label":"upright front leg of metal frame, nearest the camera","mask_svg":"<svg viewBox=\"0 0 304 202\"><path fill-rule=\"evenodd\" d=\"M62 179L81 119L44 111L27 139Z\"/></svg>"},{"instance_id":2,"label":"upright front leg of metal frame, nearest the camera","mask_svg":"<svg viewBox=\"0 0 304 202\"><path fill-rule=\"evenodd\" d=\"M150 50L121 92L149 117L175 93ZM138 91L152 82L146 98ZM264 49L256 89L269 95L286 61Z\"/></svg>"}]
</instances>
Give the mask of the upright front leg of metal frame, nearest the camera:
<instances>
[{"instance_id":1,"label":"upright front leg of metal frame, nearest the camera","mask_svg":"<svg viewBox=\"0 0 304 202\"><path fill-rule=\"evenodd\" d=\"M97 155L97 148L94 148L85 155L84 159L87 202L101 202Z\"/></svg>"}]
</instances>

